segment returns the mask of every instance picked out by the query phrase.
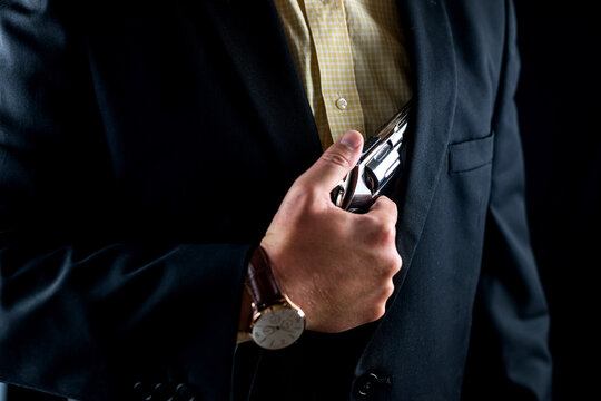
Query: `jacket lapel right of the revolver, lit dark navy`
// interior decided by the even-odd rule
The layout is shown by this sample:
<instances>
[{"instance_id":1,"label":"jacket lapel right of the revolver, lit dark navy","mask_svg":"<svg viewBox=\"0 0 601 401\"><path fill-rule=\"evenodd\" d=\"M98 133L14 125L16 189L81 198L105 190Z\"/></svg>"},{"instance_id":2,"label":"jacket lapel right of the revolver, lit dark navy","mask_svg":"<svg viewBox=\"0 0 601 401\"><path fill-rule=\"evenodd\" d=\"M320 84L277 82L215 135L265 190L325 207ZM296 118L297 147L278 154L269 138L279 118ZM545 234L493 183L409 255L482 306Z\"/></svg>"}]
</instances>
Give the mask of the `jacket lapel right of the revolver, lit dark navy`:
<instances>
[{"instance_id":1,"label":"jacket lapel right of the revolver, lit dark navy","mask_svg":"<svg viewBox=\"0 0 601 401\"><path fill-rule=\"evenodd\" d=\"M397 246L404 266L401 287L422 235L444 169L456 101L455 55L442 1L400 0L403 29L412 65L415 117L407 140L404 179L395 190L398 204Z\"/></svg>"}]
</instances>

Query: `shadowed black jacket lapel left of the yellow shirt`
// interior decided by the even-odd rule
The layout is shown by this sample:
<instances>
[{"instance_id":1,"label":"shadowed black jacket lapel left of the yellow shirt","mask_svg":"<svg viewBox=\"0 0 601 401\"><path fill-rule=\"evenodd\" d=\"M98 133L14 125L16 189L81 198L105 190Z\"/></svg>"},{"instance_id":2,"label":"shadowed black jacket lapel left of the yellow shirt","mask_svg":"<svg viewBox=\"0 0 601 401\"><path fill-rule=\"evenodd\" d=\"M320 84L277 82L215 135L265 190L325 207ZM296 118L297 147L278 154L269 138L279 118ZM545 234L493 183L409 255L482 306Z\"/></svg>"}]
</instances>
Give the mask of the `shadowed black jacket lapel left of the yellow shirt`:
<instances>
[{"instance_id":1,"label":"shadowed black jacket lapel left of the yellow shirt","mask_svg":"<svg viewBox=\"0 0 601 401\"><path fill-rule=\"evenodd\" d=\"M273 1L207 0L205 6L244 86L239 94L249 97L259 140L278 157L274 168L296 178L322 147Z\"/></svg>"}]
</instances>

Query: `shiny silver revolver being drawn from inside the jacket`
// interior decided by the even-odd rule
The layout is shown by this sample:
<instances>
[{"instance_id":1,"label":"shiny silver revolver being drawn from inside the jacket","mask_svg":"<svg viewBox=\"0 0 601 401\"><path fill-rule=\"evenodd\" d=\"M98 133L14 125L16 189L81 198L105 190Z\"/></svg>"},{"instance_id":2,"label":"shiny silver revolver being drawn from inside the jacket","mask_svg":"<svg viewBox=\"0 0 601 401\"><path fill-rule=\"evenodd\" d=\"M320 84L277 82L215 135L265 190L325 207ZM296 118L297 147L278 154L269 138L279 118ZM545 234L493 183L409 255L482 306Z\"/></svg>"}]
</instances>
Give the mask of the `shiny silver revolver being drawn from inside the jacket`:
<instances>
[{"instance_id":1,"label":"shiny silver revolver being drawn from inside the jacket","mask_svg":"<svg viewBox=\"0 0 601 401\"><path fill-rule=\"evenodd\" d=\"M407 129L410 100L363 145L357 165L332 190L332 202L353 213L370 208L401 167L401 146Z\"/></svg>"}]
</instances>

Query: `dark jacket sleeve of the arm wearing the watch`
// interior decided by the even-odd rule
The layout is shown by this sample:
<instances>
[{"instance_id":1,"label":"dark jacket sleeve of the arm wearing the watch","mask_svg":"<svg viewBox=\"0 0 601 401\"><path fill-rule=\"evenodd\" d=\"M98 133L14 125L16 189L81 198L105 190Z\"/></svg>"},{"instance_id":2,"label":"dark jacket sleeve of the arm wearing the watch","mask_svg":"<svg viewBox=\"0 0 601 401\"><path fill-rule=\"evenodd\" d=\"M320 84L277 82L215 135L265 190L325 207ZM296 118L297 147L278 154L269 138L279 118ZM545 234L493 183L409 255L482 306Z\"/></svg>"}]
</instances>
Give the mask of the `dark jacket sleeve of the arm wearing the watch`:
<instances>
[{"instance_id":1,"label":"dark jacket sleeve of the arm wearing the watch","mask_svg":"<svg viewBox=\"0 0 601 401\"><path fill-rule=\"evenodd\" d=\"M115 214L75 3L0 1L0 382L225 399L252 245L173 241Z\"/></svg>"}]
</instances>

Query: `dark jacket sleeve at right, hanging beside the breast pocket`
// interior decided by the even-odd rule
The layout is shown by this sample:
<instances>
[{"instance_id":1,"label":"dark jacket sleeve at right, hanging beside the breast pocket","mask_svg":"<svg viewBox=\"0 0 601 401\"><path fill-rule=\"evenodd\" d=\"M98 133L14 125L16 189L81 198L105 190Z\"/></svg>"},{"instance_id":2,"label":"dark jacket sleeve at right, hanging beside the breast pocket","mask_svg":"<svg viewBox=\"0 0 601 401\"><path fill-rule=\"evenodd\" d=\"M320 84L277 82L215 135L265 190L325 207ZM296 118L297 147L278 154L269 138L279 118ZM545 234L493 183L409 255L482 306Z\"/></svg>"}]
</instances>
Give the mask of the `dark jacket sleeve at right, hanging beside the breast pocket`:
<instances>
[{"instance_id":1,"label":"dark jacket sleeve at right, hanging beside the breast pocket","mask_svg":"<svg viewBox=\"0 0 601 401\"><path fill-rule=\"evenodd\" d=\"M513 96L515 16L508 3L505 65L493 130L493 177L471 335L465 400L550 400L549 311L530 246L524 163Z\"/></svg>"}]
</instances>

